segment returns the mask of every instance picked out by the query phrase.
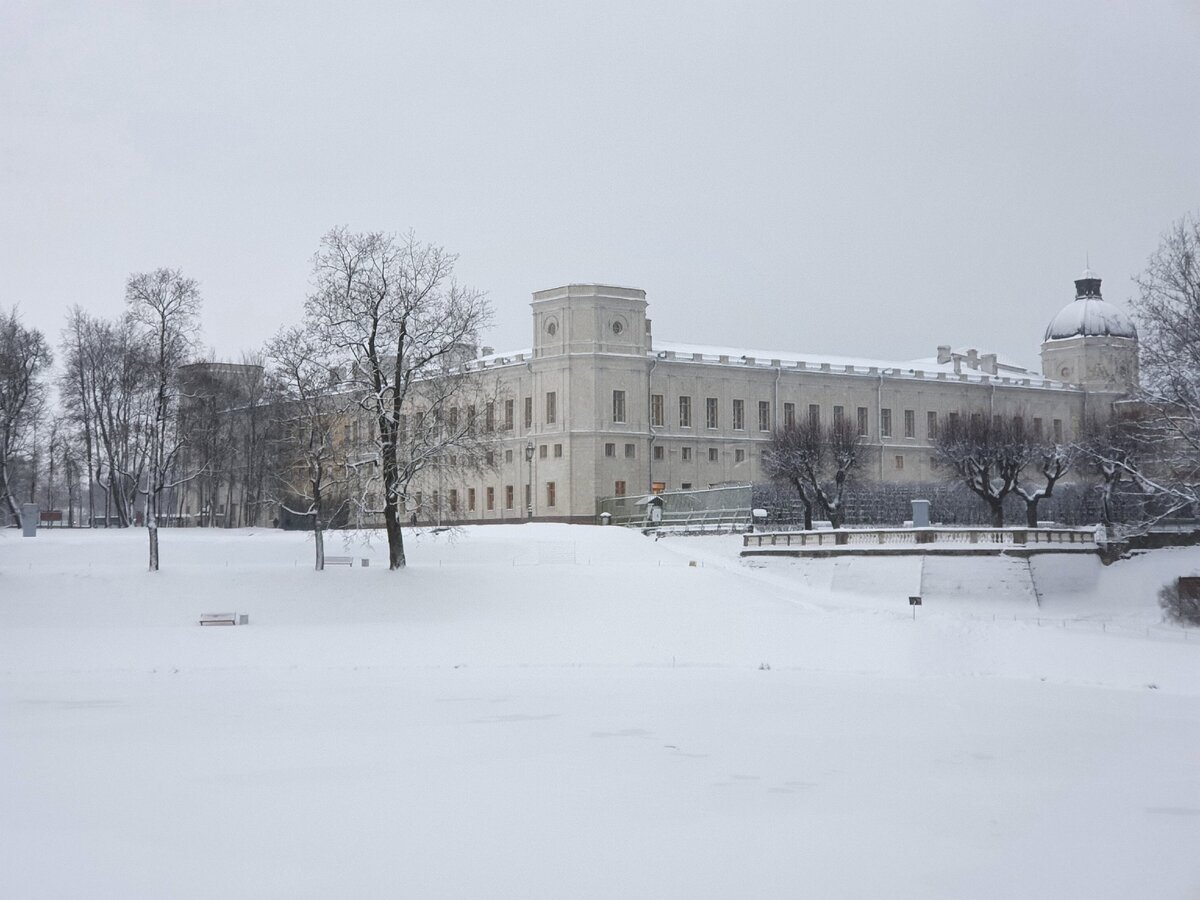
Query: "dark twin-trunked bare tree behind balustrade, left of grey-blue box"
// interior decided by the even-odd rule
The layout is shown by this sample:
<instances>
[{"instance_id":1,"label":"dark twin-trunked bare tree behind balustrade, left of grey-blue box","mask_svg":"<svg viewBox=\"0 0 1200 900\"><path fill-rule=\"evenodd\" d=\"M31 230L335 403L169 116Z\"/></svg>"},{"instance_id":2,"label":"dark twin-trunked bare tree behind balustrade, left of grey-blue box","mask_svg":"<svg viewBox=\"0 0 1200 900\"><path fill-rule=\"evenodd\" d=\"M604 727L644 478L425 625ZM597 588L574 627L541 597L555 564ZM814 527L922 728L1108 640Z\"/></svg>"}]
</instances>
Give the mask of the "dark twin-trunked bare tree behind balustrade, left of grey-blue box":
<instances>
[{"instance_id":1,"label":"dark twin-trunked bare tree behind balustrade, left of grey-blue box","mask_svg":"<svg viewBox=\"0 0 1200 900\"><path fill-rule=\"evenodd\" d=\"M814 421L780 428L763 451L763 468L791 485L804 506L804 527L812 528L816 505L834 528L845 522L844 500L856 470L866 462L870 448L858 430L839 419L822 427Z\"/></svg>"}]
</instances>

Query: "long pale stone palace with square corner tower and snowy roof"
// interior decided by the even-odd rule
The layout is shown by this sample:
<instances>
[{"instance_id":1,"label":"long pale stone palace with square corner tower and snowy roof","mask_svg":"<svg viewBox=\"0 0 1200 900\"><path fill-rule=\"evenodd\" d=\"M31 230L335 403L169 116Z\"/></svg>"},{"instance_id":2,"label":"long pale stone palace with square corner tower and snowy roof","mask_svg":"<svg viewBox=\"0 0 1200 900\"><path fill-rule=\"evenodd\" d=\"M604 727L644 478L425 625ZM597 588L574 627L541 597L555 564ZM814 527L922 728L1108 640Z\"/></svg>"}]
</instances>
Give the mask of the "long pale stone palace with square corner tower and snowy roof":
<instances>
[{"instance_id":1,"label":"long pale stone palace with square corner tower and snowy roof","mask_svg":"<svg viewBox=\"0 0 1200 900\"><path fill-rule=\"evenodd\" d=\"M1136 329L1092 271L1046 328L1040 372L949 346L895 361L659 341L637 288L566 284L532 308L529 349L467 364L496 379L494 468L426 475L409 496L421 521L594 522L601 498L762 481L772 432L800 418L854 424L876 479L931 481L952 414L1069 442L1138 382Z\"/></svg>"}]
</instances>

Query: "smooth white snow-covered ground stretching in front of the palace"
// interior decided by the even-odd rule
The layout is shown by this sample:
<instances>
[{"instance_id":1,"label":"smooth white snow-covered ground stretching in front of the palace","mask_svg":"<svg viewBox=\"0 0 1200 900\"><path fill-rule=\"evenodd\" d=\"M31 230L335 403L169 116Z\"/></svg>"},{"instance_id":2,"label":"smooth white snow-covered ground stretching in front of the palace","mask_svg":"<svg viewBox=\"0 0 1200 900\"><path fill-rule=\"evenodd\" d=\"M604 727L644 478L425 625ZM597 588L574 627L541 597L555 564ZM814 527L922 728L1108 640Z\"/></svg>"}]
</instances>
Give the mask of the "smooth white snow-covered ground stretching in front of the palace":
<instances>
[{"instance_id":1,"label":"smooth white snow-covered ground stretching in front of the palace","mask_svg":"<svg viewBox=\"0 0 1200 900\"><path fill-rule=\"evenodd\" d=\"M0 895L1200 896L1200 551L739 546L8 530Z\"/></svg>"}]
</instances>

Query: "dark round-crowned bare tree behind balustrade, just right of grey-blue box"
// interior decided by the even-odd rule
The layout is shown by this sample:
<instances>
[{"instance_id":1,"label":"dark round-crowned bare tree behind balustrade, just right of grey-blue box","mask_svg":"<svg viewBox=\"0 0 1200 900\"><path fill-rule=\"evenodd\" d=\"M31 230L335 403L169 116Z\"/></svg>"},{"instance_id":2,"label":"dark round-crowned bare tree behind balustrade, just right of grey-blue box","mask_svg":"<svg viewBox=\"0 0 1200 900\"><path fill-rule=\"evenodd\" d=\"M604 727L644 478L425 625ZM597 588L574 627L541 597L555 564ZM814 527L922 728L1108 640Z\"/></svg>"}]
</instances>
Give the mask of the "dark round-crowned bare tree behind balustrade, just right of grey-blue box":
<instances>
[{"instance_id":1,"label":"dark round-crowned bare tree behind balustrade, just right of grey-blue box","mask_svg":"<svg viewBox=\"0 0 1200 900\"><path fill-rule=\"evenodd\" d=\"M984 413L952 413L934 438L934 452L953 478L988 504L991 524L1002 528L1004 498L1016 488L1031 456L1018 426Z\"/></svg>"}]
</instances>

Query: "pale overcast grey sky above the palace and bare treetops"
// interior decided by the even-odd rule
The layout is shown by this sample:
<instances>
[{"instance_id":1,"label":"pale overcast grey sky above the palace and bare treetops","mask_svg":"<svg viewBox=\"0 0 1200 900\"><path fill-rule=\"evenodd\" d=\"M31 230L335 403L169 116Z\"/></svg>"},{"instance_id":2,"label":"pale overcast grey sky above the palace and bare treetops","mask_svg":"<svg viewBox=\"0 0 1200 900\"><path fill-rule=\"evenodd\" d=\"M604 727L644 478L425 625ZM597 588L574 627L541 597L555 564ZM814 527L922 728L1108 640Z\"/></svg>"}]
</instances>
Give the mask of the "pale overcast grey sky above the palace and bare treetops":
<instances>
[{"instance_id":1,"label":"pale overcast grey sky above the palace and bare treetops","mask_svg":"<svg viewBox=\"0 0 1200 900\"><path fill-rule=\"evenodd\" d=\"M251 8L252 6L252 8ZM644 288L660 340L1037 364L1200 209L1195 2L0 4L0 307L132 271L234 358L335 224L486 290Z\"/></svg>"}]
</instances>

